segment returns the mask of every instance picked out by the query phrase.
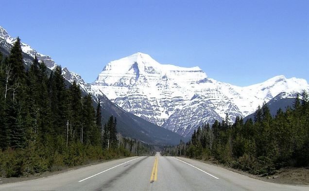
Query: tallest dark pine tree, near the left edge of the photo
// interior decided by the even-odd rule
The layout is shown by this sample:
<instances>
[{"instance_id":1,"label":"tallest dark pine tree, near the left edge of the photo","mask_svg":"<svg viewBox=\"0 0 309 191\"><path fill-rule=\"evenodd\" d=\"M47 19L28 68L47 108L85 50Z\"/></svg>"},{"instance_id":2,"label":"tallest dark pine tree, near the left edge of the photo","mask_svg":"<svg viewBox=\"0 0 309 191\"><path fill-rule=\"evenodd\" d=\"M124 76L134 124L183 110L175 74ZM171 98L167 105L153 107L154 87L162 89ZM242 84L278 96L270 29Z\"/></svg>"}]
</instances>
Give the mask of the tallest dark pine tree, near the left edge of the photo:
<instances>
[{"instance_id":1,"label":"tallest dark pine tree, near the left edge of the photo","mask_svg":"<svg viewBox=\"0 0 309 191\"><path fill-rule=\"evenodd\" d=\"M11 54L4 62L5 68L5 125L9 146L23 148L29 128L27 84L20 39L14 43Z\"/></svg>"}]
</instances>

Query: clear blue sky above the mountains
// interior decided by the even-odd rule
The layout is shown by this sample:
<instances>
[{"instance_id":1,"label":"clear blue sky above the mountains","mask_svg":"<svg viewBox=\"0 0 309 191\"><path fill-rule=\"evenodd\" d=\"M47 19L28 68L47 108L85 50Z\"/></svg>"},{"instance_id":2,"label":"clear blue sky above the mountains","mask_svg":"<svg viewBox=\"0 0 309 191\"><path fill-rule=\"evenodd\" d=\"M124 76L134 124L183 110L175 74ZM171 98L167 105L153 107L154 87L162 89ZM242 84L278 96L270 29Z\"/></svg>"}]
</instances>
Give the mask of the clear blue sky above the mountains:
<instances>
[{"instance_id":1,"label":"clear blue sky above the mountains","mask_svg":"<svg viewBox=\"0 0 309 191\"><path fill-rule=\"evenodd\" d=\"M270 77L309 82L309 0L3 0L0 25L38 52L95 80L136 52L199 66L250 85Z\"/></svg>"}]
</instances>

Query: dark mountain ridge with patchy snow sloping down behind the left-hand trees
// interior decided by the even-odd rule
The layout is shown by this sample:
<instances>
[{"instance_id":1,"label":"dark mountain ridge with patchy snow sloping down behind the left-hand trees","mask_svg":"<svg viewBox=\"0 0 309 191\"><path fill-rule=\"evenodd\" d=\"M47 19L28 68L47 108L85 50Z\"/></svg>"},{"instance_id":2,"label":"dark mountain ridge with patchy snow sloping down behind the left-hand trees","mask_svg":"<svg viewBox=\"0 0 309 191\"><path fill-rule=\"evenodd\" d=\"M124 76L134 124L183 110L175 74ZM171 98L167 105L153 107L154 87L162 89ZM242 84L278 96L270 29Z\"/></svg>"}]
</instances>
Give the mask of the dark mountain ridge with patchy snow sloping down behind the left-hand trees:
<instances>
[{"instance_id":1,"label":"dark mountain ridge with patchy snow sloping down behind the left-hand trees","mask_svg":"<svg viewBox=\"0 0 309 191\"><path fill-rule=\"evenodd\" d=\"M12 38L6 32L4 28L0 26L0 52L4 55L9 55L10 49L17 38ZM25 68L29 68L32 64L34 56L36 55L40 61L44 61L48 69L53 70L57 64L49 56L42 55L36 50L31 48L25 43L21 43L22 54L24 57ZM92 95L94 106L96 107L98 99L101 100L101 111L103 116L103 123L105 123L109 116L113 115L117 117L117 131L123 136L128 136L131 138L136 138L145 143L151 144L161 144L161 145L175 145L180 142L180 140L185 140L179 134L172 131L160 128L159 126L139 118L131 113L128 113L124 109L120 108L115 103L111 102L102 92L94 91L92 85L87 84L83 78L69 71L68 68L62 69L62 74L66 79L66 84L69 87L73 81L81 87L82 94L86 95L90 93Z\"/></svg>"}]
</instances>

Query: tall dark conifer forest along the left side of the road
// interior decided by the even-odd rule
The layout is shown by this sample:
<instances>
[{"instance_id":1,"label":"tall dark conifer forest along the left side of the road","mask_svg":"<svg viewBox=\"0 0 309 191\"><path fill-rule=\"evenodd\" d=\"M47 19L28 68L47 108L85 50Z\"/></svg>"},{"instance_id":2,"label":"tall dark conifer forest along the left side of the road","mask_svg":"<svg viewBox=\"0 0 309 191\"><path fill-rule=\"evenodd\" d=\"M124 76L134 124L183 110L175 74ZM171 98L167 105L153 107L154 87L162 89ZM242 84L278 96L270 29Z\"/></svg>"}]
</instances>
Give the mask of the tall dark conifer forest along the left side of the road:
<instances>
[{"instance_id":1,"label":"tall dark conifer forest along the left side of the road","mask_svg":"<svg viewBox=\"0 0 309 191\"><path fill-rule=\"evenodd\" d=\"M150 146L117 134L117 119L102 124L93 107L62 69L49 71L34 58L25 70L20 39L0 53L0 176L18 177L121 156L149 153Z\"/></svg>"}]
</instances>

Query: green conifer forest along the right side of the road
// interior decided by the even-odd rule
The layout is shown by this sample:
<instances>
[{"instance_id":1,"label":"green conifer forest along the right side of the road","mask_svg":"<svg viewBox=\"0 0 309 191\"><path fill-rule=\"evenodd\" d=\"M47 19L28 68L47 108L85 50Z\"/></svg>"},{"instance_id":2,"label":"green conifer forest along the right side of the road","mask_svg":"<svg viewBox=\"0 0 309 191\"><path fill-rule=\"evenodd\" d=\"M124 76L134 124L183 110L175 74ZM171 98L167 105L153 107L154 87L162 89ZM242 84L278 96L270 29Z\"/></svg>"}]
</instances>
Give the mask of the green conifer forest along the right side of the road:
<instances>
[{"instance_id":1,"label":"green conifer forest along the right side of the road","mask_svg":"<svg viewBox=\"0 0 309 191\"><path fill-rule=\"evenodd\" d=\"M309 97L295 98L293 108L279 109L273 117L264 102L253 119L228 116L204 124L189 142L165 148L165 154L213 160L253 174L274 174L282 167L309 166Z\"/></svg>"}]
</instances>

